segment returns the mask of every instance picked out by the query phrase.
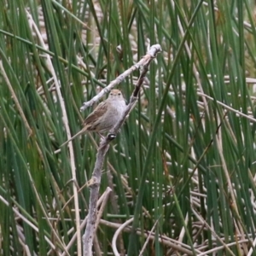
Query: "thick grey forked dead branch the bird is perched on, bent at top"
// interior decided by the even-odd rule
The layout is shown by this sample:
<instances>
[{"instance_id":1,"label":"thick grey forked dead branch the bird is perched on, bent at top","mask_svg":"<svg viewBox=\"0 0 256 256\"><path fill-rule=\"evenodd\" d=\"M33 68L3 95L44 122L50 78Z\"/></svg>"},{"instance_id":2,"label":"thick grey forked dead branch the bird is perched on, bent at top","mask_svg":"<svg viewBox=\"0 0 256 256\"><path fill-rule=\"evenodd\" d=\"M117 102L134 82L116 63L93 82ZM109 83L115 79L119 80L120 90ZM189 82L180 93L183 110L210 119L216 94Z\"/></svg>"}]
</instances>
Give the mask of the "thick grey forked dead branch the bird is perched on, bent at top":
<instances>
[{"instance_id":1,"label":"thick grey forked dead branch the bird is perched on, bent at top","mask_svg":"<svg viewBox=\"0 0 256 256\"><path fill-rule=\"evenodd\" d=\"M137 81L137 85L135 89L132 92L130 102L126 106L125 112L123 113L122 118L119 120L119 122L116 125L114 125L111 131L109 131L108 136L102 139L100 146L98 148L98 152L96 154L96 164L95 164L94 171L92 173L92 177L90 179L91 182L90 182L90 202L89 202L88 222L87 222L86 229L83 236L84 256L92 256L92 241L93 241L93 236L95 232L94 230L95 230L95 222L96 222L96 201L99 195L103 161L104 161L105 155L108 152L109 143L116 137L116 134L119 131L120 127L125 123L126 117L131 112L132 108L135 107L139 90L141 88L141 85L143 84L143 79L146 73L148 72L148 66L160 51L161 51L160 44L152 45L148 50L147 55L144 55L141 61L139 61L136 65L132 66L127 71L125 71L125 73L119 75L119 77L113 80L113 82L110 83L105 89L105 91L110 90L111 88L113 88L114 85L119 84L122 80L124 80L126 76L130 75L132 71L138 69L141 66L143 67L143 71L140 75L140 78ZM103 93L104 91L102 91L96 97L92 98L90 102L84 103L84 106L80 108L80 110L84 110L84 108L87 108L90 106L90 104L93 104L94 102L96 102L99 99L99 97L103 95Z\"/></svg>"}]
</instances>

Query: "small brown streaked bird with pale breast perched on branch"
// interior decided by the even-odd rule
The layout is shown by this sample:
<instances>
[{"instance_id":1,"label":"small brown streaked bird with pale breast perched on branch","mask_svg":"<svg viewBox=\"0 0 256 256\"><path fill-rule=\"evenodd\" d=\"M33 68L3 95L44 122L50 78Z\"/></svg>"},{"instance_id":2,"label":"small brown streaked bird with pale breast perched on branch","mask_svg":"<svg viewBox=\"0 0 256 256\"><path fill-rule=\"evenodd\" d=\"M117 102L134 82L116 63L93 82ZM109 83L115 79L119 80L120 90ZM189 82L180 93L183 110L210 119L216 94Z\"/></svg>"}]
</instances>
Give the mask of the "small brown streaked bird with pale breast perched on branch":
<instances>
[{"instance_id":1,"label":"small brown streaked bird with pale breast perched on branch","mask_svg":"<svg viewBox=\"0 0 256 256\"><path fill-rule=\"evenodd\" d=\"M83 134L85 131L96 131L101 133L109 131L122 117L125 111L125 99L120 90L113 89L110 91L108 99L101 102L96 109L84 120L84 128L71 137L64 146L75 137Z\"/></svg>"}]
</instances>

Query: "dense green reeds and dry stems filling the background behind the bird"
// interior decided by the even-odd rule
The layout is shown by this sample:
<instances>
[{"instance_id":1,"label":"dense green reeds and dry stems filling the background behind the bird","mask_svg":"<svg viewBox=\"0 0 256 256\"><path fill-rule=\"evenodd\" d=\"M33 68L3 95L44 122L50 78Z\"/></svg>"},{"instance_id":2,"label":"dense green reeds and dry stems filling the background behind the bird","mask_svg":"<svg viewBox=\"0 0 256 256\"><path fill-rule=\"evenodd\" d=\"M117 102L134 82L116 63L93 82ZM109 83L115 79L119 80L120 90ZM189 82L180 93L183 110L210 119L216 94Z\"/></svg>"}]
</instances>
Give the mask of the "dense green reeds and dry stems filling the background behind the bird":
<instances>
[{"instance_id":1,"label":"dense green reeds and dry stems filling the background behind the bird","mask_svg":"<svg viewBox=\"0 0 256 256\"><path fill-rule=\"evenodd\" d=\"M113 252L132 217L121 255L145 242L143 255L256 255L254 1L0 3L1 254L79 253L67 245L75 211L87 214L98 137L75 139L73 156L59 148L65 120L78 132L91 111L82 103L139 61L149 38L163 52L108 151L101 193L113 193L96 255ZM127 99L137 77L119 85Z\"/></svg>"}]
</instances>

